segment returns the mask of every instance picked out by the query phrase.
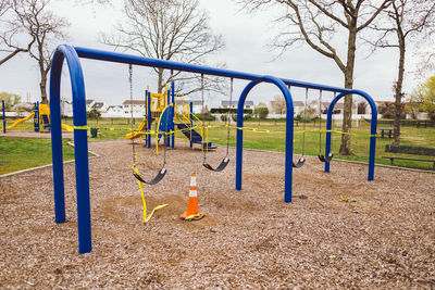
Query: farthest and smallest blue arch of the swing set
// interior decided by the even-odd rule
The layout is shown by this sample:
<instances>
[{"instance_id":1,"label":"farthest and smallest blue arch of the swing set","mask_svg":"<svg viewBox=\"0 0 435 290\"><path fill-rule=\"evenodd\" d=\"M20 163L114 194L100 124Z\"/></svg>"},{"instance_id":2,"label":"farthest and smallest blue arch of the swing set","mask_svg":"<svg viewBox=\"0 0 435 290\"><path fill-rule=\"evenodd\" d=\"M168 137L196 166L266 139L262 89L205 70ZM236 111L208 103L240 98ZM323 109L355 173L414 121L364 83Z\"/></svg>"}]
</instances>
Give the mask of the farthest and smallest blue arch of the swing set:
<instances>
[{"instance_id":1,"label":"farthest and smallest blue arch of the swing set","mask_svg":"<svg viewBox=\"0 0 435 290\"><path fill-rule=\"evenodd\" d=\"M325 146L325 156L327 156L331 152L331 130L333 127L333 112L334 106L338 102L339 99L345 97L346 94L353 93L363 97L370 104L372 109L372 122L370 128L370 154L369 154L369 176L368 180L371 181L374 178L374 159L376 155L376 127L377 127L377 109L376 103L373 101L372 97L365 93L362 90L352 90L351 92L341 92L331 102L327 108L327 119L326 119L326 146ZM325 163L325 172L330 172L330 162Z\"/></svg>"}]
</instances>

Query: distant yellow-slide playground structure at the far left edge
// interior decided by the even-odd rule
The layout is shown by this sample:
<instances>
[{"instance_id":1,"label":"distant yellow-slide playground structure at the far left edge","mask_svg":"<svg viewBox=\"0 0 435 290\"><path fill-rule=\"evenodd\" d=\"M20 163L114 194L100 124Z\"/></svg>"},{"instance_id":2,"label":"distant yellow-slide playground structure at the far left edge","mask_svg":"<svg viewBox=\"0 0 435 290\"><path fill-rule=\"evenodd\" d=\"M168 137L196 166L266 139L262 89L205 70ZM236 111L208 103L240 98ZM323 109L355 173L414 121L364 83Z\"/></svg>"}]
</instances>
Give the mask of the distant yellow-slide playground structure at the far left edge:
<instances>
[{"instance_id":1,"label":"distant yellow-slide playground structure at the far left edge","mask_svg":"<svg viewBox=\"0 0 435 290\"><path fill-rule=\"evenodd\" d=\"M7 112L26 112L28 115L23 118L14 119L12 125L7 126ZM34 131L36 133L49 133L51 129L50 124L50 106L48 104L42 104L39 102L34 103L33 112L27 112L24 110L15 110L15 111L5 111L4 100L2 100L2 118L3 118L3 126L1 130L7 134L8 130L15 128L18 125L23 125L25 122L33 118L34 123ZM66 131L73 131L73 127L62 124L62 128ZM22 127L23 130L23 127Z\"/></svg>"}]
</instances>

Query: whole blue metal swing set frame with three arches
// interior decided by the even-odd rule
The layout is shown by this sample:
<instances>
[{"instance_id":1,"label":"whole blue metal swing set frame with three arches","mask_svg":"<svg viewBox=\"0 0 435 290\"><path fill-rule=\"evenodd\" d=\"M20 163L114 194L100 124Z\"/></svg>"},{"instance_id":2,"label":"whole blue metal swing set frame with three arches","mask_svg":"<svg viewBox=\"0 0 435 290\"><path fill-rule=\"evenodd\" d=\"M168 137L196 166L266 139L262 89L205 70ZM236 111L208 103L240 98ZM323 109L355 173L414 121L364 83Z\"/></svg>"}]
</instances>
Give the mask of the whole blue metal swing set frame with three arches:
<instances>
[{"instance_id":1,"label":"whole blue metal swing set frame with three arches","mask_svg":"<svg viewBox=\"0 0 435 290\"><path fill-rule=\"evenodd\" d=\"M140 58L135 55L99 51L86 48L73 48L67 45L59 46L54 52L50 78L50 109L51 109L51 140L53 159L53 181L54 181L54 212L55 222L65 222L65 199L64 199L64 177L63 177L63 156L62 156L62 130L60 112L60 79L63 62L70 68L71 84L73 90L73 118L74 118L74 143L75 143L75 171L77 190L77 222L78 222L78 250L79 253L91 251L91 227L90 227L90 201L89 201L89 169L88 169L88 143L87 143L87 119L86 119L86 97L84 77L79 58L124 63L129 65L151 66L165 70L176 70L203 75L228 77L231 79L250 80L245 87L238 100L237 110L237 148L236 148L236 190L241 190L243 177L243 131L244 131L244 103L250 90L261 83L271 83L278 87L286 100L286 150L285 150L285 189L284 201L291 202L293 185L293 141L294 141L294 105L290 91L287 86L303 87L323 91L338 92L327 110L326 123L326 147L324 156L331 153L331 128L332 112L336 102L346 94L359 94L370 104L372 111L371 136L370 136L370 156L368 180L374 178L374 157L376 143L376 115L377 110L373 99L361 90L350 90L338 87L323 86L312 83L277 78L274 76L260 76L248 73L219 70L199 65L176 63L164 60ZM173 108L173 106L172 106ZM169 110L167 112L171 112ZM149 121L148 121L149 122ZM172 134L172 133L171 133ZM325 172L330 172L330 161L325 160Z\"/></svg>"}]
</instances>

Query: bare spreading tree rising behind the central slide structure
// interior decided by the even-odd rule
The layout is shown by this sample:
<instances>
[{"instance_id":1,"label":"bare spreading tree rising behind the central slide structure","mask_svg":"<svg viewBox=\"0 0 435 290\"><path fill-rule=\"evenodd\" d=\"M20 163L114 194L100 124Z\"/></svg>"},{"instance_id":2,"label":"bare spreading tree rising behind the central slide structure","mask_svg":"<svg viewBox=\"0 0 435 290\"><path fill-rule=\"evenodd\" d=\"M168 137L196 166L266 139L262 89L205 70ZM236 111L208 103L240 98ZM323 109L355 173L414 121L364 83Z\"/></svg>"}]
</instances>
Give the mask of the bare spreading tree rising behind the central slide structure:
<instances>
[{"instance_id":1,"label":"bare spreading tree rising behind the central slide structure","mask_svg":"<svg viewBox=\"0 0 435 290\"><path fill-rule=\"evenodd\" d=\"M198 0L125 0L126 21L114 27L115 34L101 34L100 40L115 49L132 50L147 58L204 64L206 58L224 45L221 36L212 34L208 14L198 7ZM171 80L177 80L179 88L183 81L195 77L175 72L171 79L163 68L154 71L159 92ZM213 88L213 83L207 84L209 89ZM198 87L185 93L197 90Z\"/></svg>"}]
</instances>

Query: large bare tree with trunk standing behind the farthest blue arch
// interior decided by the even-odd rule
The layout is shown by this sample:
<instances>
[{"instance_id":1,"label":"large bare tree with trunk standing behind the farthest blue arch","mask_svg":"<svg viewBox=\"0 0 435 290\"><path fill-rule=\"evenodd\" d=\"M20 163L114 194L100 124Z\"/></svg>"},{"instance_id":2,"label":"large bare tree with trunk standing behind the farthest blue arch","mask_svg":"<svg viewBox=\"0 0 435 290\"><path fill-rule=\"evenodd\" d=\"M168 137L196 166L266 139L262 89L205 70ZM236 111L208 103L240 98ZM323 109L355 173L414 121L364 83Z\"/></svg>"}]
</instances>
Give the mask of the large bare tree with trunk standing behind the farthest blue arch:
<instances>
[{"instance_id":1,"label":"large bare tree with trunk standing behind the farthest blue arch","mask_svg":"<svg viewBox=\"0 0 435 290\"><path fill-rule=\"evenodd\" d=\"M345 88L353 87L353 70L357 51L357 38L383 11L391 0L377 1L373 7L371 0L239 0L253 11L264 4L277 4L282 15L276 23L282 31L274 38L273 46L284 53L297 42L306 42L313 50L333 60L345 77ZM339 38L347 34L347 40ZM341 34L343 35L343 34ZM334 46L334 41L338 45ZM339 55L343 46L347 45L344 55ZM352 96L345 97L343 131L351 128ZM351 154L350 135L341 135L340 154Z\"/></svg>"}]
</instances>

